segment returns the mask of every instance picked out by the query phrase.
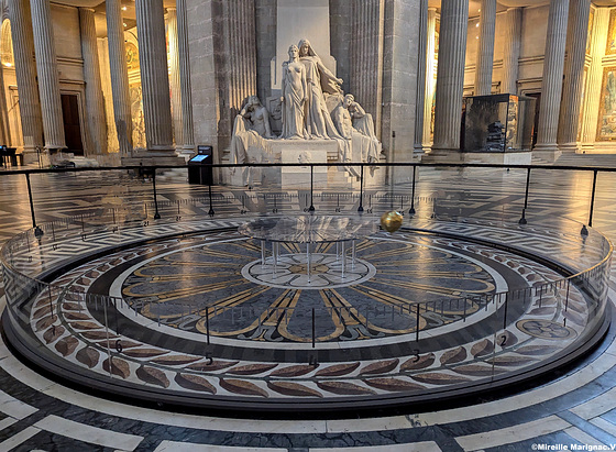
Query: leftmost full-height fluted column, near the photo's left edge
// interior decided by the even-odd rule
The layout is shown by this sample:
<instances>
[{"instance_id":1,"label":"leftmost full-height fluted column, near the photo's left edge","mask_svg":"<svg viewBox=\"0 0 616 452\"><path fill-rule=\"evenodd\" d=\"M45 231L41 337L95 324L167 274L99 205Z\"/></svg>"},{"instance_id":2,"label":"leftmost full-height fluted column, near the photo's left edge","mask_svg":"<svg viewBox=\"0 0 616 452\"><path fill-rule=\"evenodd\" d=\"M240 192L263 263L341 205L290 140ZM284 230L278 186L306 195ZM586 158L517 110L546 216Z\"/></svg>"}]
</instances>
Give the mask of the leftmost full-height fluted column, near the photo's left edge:
<instances>
[{"instance_id":1,"label":"leftmost full-height fluted column, near the photo's left edge","mask_svg":"<svg viewBox=\"0 0 616 452\"><path fill-rule=\"evenodd\" d=\"M9 19L20 99L24 163L32 163L37 159L36 147L43 146L43 119L33 58L34 37L29 0L10 0Z\"/></svg>"}]
</instances>

